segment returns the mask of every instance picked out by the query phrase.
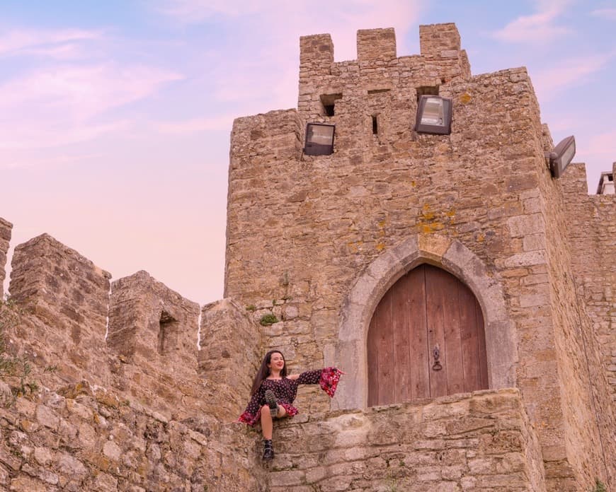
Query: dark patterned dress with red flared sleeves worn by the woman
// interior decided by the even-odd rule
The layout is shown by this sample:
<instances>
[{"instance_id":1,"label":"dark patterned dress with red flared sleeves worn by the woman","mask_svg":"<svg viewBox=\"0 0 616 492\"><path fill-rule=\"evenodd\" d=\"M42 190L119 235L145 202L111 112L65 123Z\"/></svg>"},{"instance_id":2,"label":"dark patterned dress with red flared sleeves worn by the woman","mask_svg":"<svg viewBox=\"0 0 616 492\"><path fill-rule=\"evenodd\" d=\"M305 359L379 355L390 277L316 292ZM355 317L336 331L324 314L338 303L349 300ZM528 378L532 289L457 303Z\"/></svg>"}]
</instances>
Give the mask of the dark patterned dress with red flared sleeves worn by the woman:
<instances>
[{"instance_id":1,"label":"dark patterned dress with red flared sleeves worn by the woman","mask_svg":"<svg viewBox=\"0 0 616 492\"><path fill-rule=\"evenodd\" d=\"M292 417L297 414L297 409L292 405L297 396L297 387L299 385L320 385L330 397L336 392L338 381L340 380L341 371L337 368L324 368L318 370L307 370L300 374L296 380L291 380L288 377L283 377L280 380L263 380L258 391L253 394L246 410L239 421L254 426L261 420L261 406L266 404L266 389L271 389L276 397L276 402L283 406L287 411L287 415Z\"/></svg>"}]
</instances>

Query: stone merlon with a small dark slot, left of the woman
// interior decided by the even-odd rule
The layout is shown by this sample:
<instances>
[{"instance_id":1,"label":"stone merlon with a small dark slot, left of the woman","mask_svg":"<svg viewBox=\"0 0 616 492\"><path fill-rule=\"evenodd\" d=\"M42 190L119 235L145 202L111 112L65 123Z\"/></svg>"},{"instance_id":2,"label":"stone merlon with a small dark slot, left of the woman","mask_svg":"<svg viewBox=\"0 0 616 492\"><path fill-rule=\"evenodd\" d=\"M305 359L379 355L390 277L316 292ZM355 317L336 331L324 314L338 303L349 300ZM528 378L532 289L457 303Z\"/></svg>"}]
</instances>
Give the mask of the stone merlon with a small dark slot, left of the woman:
<instances>
[{"instance_id":1,"label":"stone merlon with a small dark slot, left of the woman","mask_svg":"<svg viewBox=\"0 0 616 492\"><path fill-rule=\"evenodd\" d=\"M167 415L202 409L199 310L147 271L113 282L107 346L121 361L118 385Z\"/></svg>"}]
</instances>

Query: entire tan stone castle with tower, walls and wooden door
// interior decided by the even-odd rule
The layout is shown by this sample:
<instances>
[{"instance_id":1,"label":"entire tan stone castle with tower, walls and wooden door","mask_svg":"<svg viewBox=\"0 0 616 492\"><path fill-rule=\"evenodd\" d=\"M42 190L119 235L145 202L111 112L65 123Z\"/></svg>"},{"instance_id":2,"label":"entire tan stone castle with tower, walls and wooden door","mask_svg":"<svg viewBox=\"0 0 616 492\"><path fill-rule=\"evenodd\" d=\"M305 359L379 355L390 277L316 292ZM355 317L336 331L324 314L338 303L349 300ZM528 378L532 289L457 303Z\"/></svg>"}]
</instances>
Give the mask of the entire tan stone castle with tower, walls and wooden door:
<instances>
[{"instance_id":1,"label":"entire tan stone castle with tower, walls and wooden door","mask_svg":"<svg viewBox=\"0 0 616 492\"><path fill-rule=\"evenodd\" d=\"M472 76L455 25L413 56L392 29L357 40L334 62L302 37L297 109L235 120L223 300L16 247L6 351L40 384L3 377L2 486L616 486L615 169L591 196L582 164L554 175L527 72ZM264 467L232 421L268 348L346 375L331 401L301 389Z\"/></svg>"}]
</instances>

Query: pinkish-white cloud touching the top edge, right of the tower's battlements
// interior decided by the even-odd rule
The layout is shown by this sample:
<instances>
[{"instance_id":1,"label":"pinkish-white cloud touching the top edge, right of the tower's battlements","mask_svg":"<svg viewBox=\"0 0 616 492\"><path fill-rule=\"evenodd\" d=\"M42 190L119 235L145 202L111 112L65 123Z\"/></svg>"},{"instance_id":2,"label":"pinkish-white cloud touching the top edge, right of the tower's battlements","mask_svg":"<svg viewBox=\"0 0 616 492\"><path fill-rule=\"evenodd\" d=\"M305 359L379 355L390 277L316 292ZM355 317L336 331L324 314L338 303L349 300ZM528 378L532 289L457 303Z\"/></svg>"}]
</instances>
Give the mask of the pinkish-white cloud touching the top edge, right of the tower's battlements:
<instances>
[{"instance_id":1,"label":"pinkish-white cloud touching the top edge, right of the tower's battlements","mask_svg":"<svg viewBox=\"0 0 616 492\"><path fill-rule=\"evenodd\" d=\"M571 4L571 0L537 1L537 12L520 16L504 28L494 31L493 37L506 42L551 42L571 33L569 28L557 24L557 18Z\"/></svg>"}]
</instances>

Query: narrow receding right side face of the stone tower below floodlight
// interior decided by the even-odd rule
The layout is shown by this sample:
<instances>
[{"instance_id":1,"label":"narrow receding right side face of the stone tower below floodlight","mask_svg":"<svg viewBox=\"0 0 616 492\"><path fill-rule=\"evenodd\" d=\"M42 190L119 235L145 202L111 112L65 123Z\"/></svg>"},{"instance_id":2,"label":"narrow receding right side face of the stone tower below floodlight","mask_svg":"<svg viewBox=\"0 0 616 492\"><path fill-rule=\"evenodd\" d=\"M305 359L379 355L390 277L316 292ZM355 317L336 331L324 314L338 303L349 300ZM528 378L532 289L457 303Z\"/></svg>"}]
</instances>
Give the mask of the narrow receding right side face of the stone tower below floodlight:
<instances>
[{"instance_id":1,"label":"narrow receding right side face of the stone tower below floodlight","mask_svg":"<svg viewBox=\"0 0 616 492\"><path fill-rule=\"evenodd\" d=\"M598 346L593 335L583 303L577 298L571 250L567 238L570 223L564 203L569 199L561 193L561 180L554 180L547 166L540 175L541 204L544 207L547 228L546 254L548 258L548 295L541 304L552 306L554 320L554 351L544 352L545 359L555 357L558 365L560 402L564 414L564 437L568 463L546 458L546 473L557 474L566 480L567 467L575 469L578 488L593 480L593 474L610 484L610 476L616 471L609 459L613 447L616 421L610 409L605 376L600 371ZM586 257L587 262L593 258ZM597 382L602 395L595 394L592 386ZM528 388L527 391L533 391ZM545 390L542 389L542 392ZM597 400L599 398L599 400ZM597 406L601 405L602 416ZM601 425L605 419L608 427ZM610 431L609 429L612 428ZM607 430L607 432L606 432ZM551 455L553 449L544 450ZM607 453L607 454L606 454ZM610 467L612 470L610 472Z\"/></svg>"}]
</instances>

